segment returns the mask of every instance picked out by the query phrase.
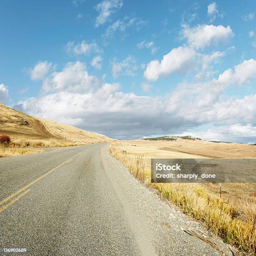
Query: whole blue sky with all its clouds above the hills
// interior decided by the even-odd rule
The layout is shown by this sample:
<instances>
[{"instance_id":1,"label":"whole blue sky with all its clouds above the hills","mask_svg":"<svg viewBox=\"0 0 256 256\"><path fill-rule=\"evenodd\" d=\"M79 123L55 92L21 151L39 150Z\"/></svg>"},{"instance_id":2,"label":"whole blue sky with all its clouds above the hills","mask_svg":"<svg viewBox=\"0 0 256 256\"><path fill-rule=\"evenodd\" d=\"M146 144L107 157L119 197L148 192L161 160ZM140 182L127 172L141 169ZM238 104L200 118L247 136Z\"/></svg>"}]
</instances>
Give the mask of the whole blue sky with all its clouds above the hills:
<instances>
[{"instance_id":1,"label":"whole blue sky with all its clouds above the hills","mask_svg":"<svg viewBox=\"0 0 256 256\"><path fill-rule=\"evenodd\" d=\"M113 138L256 142L256 1L1 1L0 102Z\"/></svg>"}]
</instances>

